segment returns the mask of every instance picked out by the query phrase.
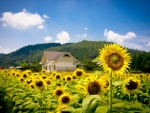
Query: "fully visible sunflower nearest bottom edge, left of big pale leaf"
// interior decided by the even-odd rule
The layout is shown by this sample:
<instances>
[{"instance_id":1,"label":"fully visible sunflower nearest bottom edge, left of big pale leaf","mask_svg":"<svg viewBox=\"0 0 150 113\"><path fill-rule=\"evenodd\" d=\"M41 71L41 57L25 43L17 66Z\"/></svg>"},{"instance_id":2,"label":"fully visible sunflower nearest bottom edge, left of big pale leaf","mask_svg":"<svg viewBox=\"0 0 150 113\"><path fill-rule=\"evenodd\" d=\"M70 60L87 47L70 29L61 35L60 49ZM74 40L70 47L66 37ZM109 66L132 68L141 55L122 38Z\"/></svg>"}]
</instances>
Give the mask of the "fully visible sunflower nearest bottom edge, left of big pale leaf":
<instances>
[{"instance_id":1,"label":"fully visible sunflower nearest bottom edge, left of big pale leaf","mask_svg":"<svg viewBox=\"0 0 150 113\"><path fill-rule=\"evenodd\" d=\"M59 105L62 105L62 104L71 104L72 102L72 96L69 94L69 93L63 93L59 99L58 99L58 102L59 102Z\"/></svg>"}]
</instances>

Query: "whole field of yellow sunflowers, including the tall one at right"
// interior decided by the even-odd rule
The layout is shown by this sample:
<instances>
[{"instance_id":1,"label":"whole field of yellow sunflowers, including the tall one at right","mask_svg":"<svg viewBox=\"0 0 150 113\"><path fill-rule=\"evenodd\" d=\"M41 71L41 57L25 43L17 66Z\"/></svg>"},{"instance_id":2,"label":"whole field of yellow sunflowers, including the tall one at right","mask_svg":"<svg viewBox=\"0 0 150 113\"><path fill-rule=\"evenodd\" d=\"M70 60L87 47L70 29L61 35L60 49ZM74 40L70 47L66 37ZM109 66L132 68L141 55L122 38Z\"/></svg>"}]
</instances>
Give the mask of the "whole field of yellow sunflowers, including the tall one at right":
<instances>
[{"instance_id":1,"label":"whole field of yellow sunflowers, including the tall one at right","mask_svg":"<svg viewBox=\"0 0 150 113\"><path fill-rule=\"evenodd\" d=\"M150 113L150 74L129 73L117 44L99 58L104 71L0 70L0 113Z\"/></svg>"}]
</instances>

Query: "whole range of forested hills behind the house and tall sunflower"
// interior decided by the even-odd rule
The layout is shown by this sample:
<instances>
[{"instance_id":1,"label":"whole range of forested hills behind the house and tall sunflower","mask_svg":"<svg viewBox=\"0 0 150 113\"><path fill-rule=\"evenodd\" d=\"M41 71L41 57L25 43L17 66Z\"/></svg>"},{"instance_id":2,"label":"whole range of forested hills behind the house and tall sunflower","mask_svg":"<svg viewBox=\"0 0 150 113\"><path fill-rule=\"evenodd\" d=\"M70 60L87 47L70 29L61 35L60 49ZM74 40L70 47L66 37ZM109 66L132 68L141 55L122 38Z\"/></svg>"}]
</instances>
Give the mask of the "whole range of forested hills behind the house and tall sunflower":
<instances>
[{"instance_id":1,"label":"whole range of forested hills behind the house and tall sunflower","mask_svg":"<svg viewBox=\"0 0 150 113\"><path fill-rule=\"evenodd\" d=\"M85 58L93 60L99 55L99 49L108 43L110 42L83 40L78 43L67 43L64 45L60 43L29 45L10 54L0 56L0 66L17 66L23 61L27 63L40 62L44 50L69 52L79 61ZM30 50L31 52L29 52ZM133 55L143 51L129 49L129 52Z\"/></svg>"}]
</instances>

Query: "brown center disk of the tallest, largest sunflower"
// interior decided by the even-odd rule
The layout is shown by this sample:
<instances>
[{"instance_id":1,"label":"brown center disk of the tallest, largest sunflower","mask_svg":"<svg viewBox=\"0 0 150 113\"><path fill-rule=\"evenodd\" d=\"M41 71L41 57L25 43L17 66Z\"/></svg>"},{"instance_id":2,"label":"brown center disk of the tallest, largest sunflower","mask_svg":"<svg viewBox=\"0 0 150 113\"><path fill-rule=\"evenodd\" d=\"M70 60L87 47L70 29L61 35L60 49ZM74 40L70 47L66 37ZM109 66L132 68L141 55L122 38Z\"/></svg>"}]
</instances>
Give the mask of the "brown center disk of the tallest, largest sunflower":
<instances>
[{"instance_id":1,"label":"brown center disk of the tallest, largest sunflower","mask_svg":"<svg viewBox=\"0 0 150 113\"><path fill-rule=\"evenodd\" d=\"M120 69L124 64L122 56L120 56L120 54L118 53L110 54L106 61L107 61L108 67L110 67L113 70Z\"/></svg>"}]
</instances>

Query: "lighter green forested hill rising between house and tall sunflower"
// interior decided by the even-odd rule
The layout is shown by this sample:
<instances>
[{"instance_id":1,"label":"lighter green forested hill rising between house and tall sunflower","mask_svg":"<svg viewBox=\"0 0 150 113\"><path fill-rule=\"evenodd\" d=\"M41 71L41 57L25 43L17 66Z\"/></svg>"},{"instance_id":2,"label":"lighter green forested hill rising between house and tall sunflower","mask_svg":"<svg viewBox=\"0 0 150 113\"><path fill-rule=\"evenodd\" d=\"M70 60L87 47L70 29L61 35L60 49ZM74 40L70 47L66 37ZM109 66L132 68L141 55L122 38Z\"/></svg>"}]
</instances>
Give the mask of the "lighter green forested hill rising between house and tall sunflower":
<instances>
[{"instance_id":1,"label":"lighter green forested hill rising between house and tall sunflower","mask_svg":"<svg viewBox=\"0 0 150 113\"><path fill-rule=\"evenodd\" d=\"M75 58L79 61L82 61L85 58L93 60L99 55L99 49L104 47L104 44L111 44L112 42L106 41L87 41L83 40L78 43L64 45L60 47L51 47L47 50L50 51L66 51L70 52ZM128 49L128 52L133 54L143 53L144 51Z\"/></svg>"}]
</instances>

